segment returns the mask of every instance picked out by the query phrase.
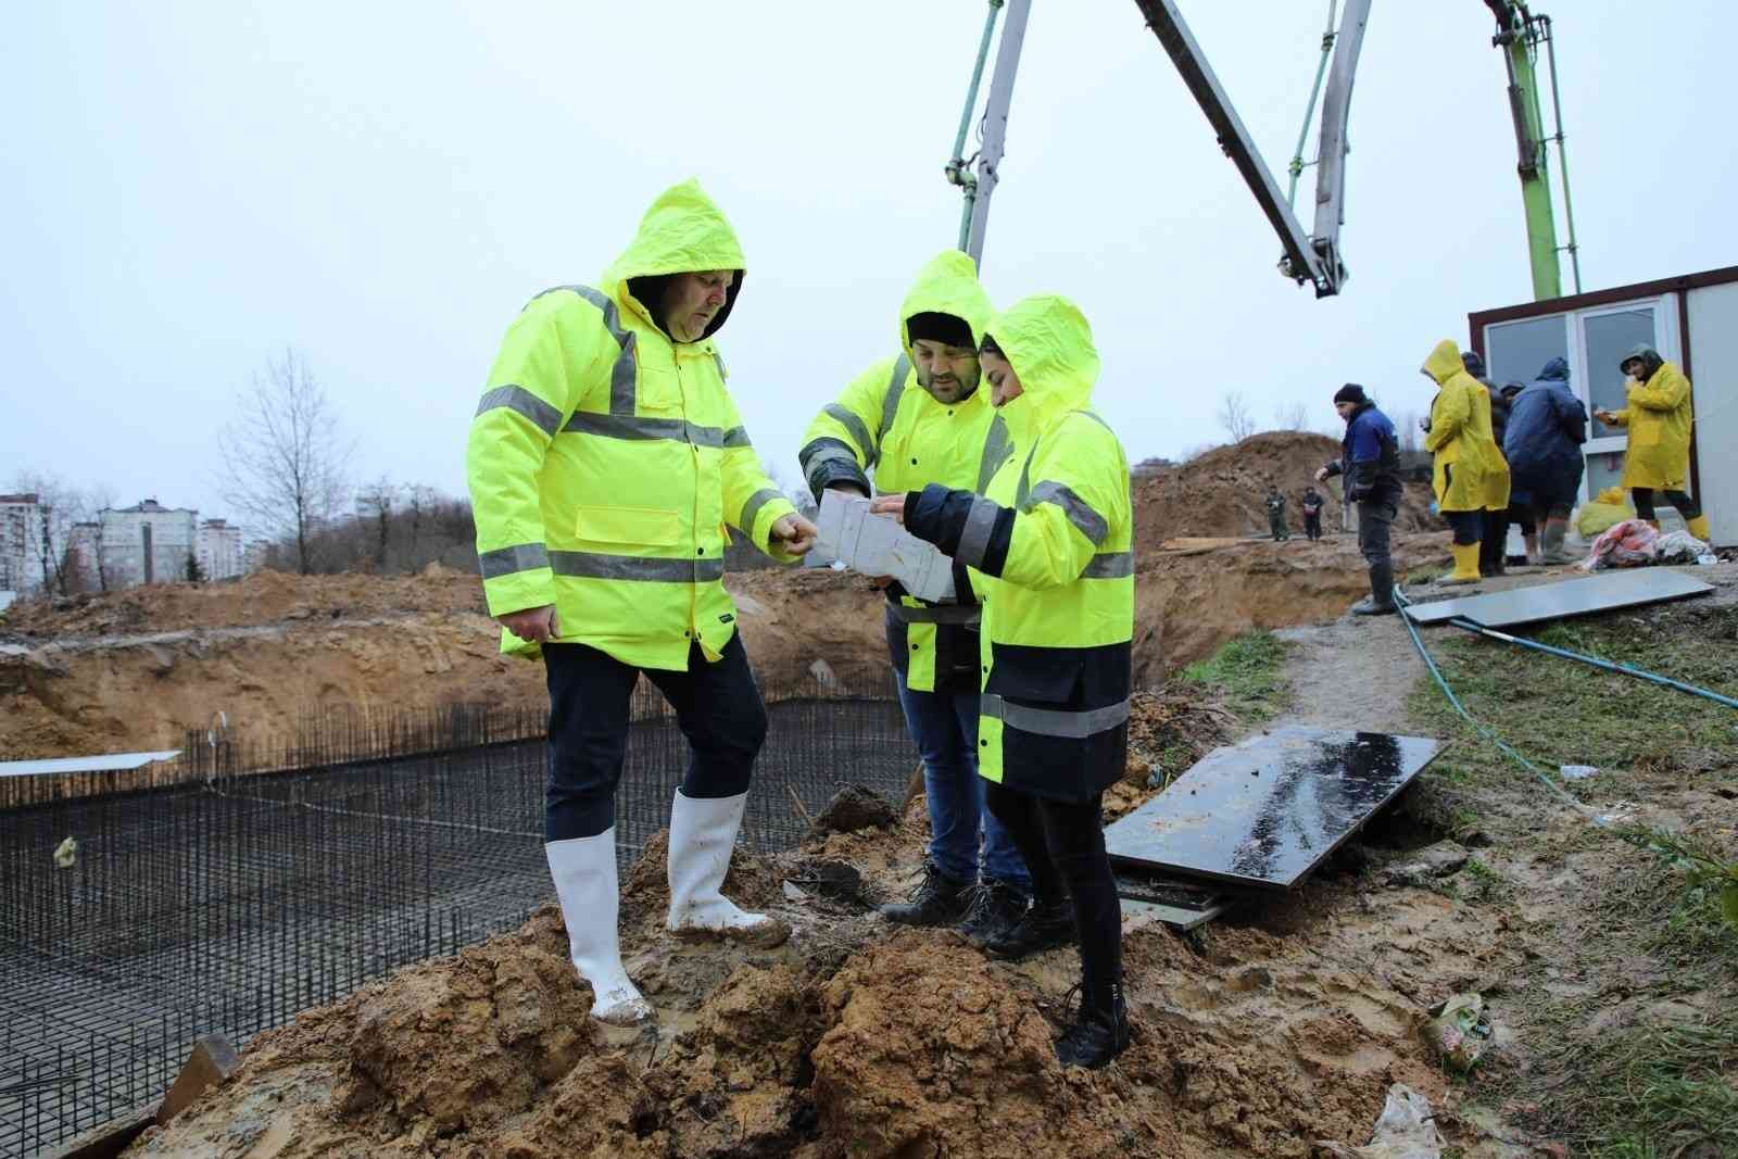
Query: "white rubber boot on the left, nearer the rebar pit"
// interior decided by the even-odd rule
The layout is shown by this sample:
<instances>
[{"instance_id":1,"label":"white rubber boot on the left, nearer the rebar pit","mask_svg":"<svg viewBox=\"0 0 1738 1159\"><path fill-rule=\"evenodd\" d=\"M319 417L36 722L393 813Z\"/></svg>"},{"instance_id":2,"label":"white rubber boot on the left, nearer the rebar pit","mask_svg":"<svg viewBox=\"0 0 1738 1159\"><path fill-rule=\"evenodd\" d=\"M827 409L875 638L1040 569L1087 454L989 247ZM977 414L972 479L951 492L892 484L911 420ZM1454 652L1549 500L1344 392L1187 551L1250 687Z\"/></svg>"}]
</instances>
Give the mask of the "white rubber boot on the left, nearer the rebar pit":
<instances>
[{"instance_id":1,"label":"white rubber boot on the left, nearer the rebar pit","mask_svg":"<svg viewBox=\"0 0 1738 1159\"><path fill-rule=\"evenodd\" d=\"M591 983L591 1017L617 1027L652 1020L652 1006L622 970L615 928L620 890L615 876L615 827L596 838L544 844L554 893L561 898L567 945L579 977Z\"/></svg>"}]
</instances>

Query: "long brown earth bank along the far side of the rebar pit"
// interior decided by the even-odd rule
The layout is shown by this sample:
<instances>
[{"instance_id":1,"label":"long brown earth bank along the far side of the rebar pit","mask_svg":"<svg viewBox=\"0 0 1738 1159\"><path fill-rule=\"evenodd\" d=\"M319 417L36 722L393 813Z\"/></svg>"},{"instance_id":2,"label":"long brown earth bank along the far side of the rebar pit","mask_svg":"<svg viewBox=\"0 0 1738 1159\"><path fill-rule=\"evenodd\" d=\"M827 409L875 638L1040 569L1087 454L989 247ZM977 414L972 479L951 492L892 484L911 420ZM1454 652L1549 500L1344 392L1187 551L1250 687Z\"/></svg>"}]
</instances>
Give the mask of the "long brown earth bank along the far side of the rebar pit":
<instances>
[{"instance_id":1,"label":"long brown earth bank along the far side of the rebar pit","mask_svg":"<svg viewBox=\"0 0 1738 1159\"><path fill-rule=\"evenodd\" d=\"M1335 452L1319 434L1257 434L1137 483L1137 685L1251 627L1333 619L1364 594L1349 535L1237 539L1265 528L1269 478L1298 492ZM1335 528L1337 488L1323 492ZM1408 499L1399 527L1425 523L1423 502ZM1208 539L1164 547L1191 535ZM1396 539L1403 573L1444 554L1441 532ZM765 570L726 584L768 686L806 681L817 660L841 674L885 669L881 596L862 577ZM231 738L282 745L328 707L542 705L541 666L502 659L497 638L478 579L440 566L30 601L0 619L0 759L181 747L217 712Z\"/></svg>"}]
</instances>

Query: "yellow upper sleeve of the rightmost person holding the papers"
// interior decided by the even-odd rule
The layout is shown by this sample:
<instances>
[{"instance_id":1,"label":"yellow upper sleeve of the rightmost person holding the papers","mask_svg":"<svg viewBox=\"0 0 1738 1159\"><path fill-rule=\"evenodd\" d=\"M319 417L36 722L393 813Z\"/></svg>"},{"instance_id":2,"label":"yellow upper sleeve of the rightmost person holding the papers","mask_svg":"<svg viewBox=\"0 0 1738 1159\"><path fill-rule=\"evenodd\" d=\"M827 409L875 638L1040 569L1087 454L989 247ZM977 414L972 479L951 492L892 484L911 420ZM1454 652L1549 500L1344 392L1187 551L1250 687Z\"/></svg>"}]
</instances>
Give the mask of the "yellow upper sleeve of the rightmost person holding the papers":
<instances>
[{"instance_id":1,"label":"yellow upper sleeve of the rightmost person holding the papers","mask_svg":"<svg viewBox=\"0 0 1738 1159\"><path fill-rule=\"evenodd\" d=\"M1128 523L1123 448L1098 421L1069 415L1041 440L1027 478L1001 579L1034 591L1065 587L1093 561L1111 527Z\"/></svg>"}]
</instances>

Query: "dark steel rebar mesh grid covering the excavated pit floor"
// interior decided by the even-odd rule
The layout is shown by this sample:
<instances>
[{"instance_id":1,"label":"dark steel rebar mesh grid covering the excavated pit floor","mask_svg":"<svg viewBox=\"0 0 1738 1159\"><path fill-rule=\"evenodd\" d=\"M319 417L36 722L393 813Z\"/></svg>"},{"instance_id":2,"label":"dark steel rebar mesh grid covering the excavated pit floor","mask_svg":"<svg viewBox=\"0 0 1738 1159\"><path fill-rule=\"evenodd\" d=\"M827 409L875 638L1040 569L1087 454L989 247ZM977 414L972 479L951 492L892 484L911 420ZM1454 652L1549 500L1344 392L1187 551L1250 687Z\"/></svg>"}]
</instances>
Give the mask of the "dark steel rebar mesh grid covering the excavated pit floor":
<instances>
[{"instance_id":1,"label":"dark steel rebar mesh grid covering the excavated pit floor","mask_svg":"<svg viewBox=\"0 0 1738 1159\"><path fill-rule=\"evenodd\" d=\"M899 799L916 752L886 678L866 683L768 695L744 846L806 832L793 794L810 813L850 782ZM669 824L688 759L674 719L638 709L617 794L624 867ZM487 714L459 719L440 735L337 730L302 745L323 759L292 772L252 772L203 738L167 787L49 792L0 811L0 1156L151 1102L200 1034L240 1044L549 900L547 747L459 745L504 732ZM346 735L372 759L332 759ZM375 756L419 745L433 751ZM63 869L68 836L78 853Z\"/></svg>"}]
</instances>

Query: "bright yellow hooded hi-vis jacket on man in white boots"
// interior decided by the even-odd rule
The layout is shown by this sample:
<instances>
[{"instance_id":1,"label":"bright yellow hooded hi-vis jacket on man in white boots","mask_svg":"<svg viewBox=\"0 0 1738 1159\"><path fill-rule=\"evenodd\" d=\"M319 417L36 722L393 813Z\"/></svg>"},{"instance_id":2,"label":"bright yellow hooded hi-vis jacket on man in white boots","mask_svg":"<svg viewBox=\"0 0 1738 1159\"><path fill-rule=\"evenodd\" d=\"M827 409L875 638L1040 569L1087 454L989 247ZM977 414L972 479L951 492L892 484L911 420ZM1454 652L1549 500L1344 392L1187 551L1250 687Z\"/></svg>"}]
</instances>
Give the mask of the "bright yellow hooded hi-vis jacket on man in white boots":
<instances>
[{"instance_id":1,"label":"bright yellow hooded hi-vis jacket on man in white boots","mask_svg":"<svg viewBox=\"0 0 1738 1159\"><path fill-rule=\"evenodd\" d=\"M676 342L633 281L735 269L707 334ZM535 297L507 328L471 421L466 473L492 615L556 606L561 643L681 671L735 632L725 527L772 542L794 511L765 471L713 332L742 248L699 182L666 189L596 287ZM641 287L647 283L641 281ZM535 646L502 632L502 652Z\"/></svg>"}]
</instances>

